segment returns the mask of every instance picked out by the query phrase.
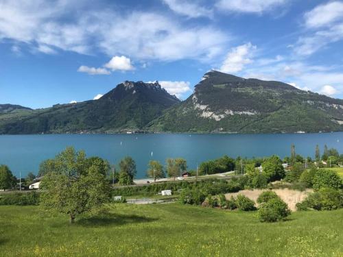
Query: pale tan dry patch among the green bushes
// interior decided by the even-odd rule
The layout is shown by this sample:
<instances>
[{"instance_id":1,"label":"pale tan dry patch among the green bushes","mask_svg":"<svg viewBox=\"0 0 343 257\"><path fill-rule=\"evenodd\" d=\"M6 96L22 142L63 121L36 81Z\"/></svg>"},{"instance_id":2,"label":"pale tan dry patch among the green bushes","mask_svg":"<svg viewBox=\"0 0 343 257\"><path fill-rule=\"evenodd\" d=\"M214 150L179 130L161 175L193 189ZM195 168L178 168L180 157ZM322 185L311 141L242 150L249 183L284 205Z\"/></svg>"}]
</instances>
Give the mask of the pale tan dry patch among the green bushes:
<instances>
[{"instance_id":1,"label":"pale tan dry patch among the green bushes","mask_svg":"<svg viewBox=\"0 0 343 257\"><path fill-rule=\"evenodd\" d=\"M268 189L253 189L253 190L242 190L237 193L228 193L225 195L226 199L230 199L231 196L236 197L237 195L245 195L246 197L257 201L257 197L264 192L268 191ZM289 209L292 211L296 210L296 204L300 201L303 201L307 197L309 193L312 193L312 189L306 189L305 191L297 191L297 190L292 190L288 188L283 188L283 189L272 189L276 193L276 195L279 195L283 201L288 205ZM258 206L258 204L256 203Z\"/></svg>"}]
</instances>

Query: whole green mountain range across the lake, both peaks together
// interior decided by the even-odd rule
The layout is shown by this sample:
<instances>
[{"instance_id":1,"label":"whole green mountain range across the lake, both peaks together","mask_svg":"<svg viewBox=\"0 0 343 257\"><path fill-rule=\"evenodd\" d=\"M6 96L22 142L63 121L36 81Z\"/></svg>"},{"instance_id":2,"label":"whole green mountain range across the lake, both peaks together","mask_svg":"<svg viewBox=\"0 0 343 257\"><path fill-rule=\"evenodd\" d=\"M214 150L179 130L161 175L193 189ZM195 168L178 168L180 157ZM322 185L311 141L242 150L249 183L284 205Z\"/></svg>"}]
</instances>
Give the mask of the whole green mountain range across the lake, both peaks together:
<instances>
[{"instance_id":1,"label":"whole green mountain range across the lake, both peaks together","mask_svg":"<svg viewBox=\"0 0 343 257\"><path fill-rule=\"evenodd\" d=\"M342 130L342 99L218 71L204 74L185 101L158 82L123 82L98 100L40 110L0 105L0 134Z\"/></svg>"}]
</instances>

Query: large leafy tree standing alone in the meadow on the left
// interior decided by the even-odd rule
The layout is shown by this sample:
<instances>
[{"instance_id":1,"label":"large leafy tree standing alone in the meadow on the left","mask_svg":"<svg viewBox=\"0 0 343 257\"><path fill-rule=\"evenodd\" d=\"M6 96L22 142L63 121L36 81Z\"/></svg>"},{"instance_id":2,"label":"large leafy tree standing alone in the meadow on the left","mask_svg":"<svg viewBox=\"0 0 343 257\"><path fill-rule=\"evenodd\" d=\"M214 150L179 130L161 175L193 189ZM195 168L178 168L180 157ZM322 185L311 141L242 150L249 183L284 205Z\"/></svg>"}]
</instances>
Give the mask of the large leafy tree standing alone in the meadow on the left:
<instances>
[{"instance_id":1,"label":"large leafy tree standing alone in the meadow on the left","mask_svg":"<svg viewBox=\"0 0 343 257\"><path fill-rule=\"evenodd\" d=\"M84 151L67 147L54 159L56 169L45 174L40 205L56 210L75 221L76 215L99 208L109 199L109 185L102 167L88 167Z\"/></svg>"}]
</instances>

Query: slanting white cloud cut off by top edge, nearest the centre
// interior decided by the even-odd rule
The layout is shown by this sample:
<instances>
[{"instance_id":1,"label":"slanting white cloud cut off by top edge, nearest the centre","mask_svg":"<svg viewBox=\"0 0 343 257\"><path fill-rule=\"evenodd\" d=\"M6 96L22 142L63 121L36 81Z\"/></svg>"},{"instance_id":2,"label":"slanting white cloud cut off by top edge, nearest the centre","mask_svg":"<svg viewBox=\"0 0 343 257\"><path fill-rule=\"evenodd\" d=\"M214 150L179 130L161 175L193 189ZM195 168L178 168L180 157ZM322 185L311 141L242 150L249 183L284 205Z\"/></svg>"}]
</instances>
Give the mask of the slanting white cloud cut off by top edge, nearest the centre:
<instances>
[{"instance_id":1,"label":"slanting white cloud cut off by top edge, nearest the centre","mask_svg":"<svg viewBox=\"0 0 343 257\"><path fill-rule=\"evenodd\" d=\"M163 0L163 2L166 3L168 7L177 14L188 16L190 18L198 18L201 16L213 16L212 10L204 8L195 3L194 1L191 2L181 0Z\"/></svg>"}]
</instances>

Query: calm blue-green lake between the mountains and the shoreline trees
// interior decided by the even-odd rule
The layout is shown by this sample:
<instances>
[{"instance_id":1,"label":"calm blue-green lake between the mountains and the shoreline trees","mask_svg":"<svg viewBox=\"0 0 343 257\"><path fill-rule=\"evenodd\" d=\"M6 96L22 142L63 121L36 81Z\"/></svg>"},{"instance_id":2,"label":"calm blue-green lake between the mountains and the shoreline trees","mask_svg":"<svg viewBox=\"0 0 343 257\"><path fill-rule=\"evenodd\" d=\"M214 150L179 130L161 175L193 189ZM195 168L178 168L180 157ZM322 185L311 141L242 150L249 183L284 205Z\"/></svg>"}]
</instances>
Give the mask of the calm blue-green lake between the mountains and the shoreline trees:
<instances>
[{"instance_id":1,"label":"calm blue-green lake between the mountains and the shoreline trees","mask_svg":"<svg viewBox=\"0 0 343 257\"><path fill-rule=\"evenodd\" d=\"M165 163L166 158L182 157L189 169L205 160L224 154L236 158L290 155L296 153L314 158L316 145L320 154L324 144L343 153L343 132L319 134L53 134L0 136L0 164L7 164L19 178L38 173L40 162L54 158L67 146L84 149L87 156L106 158L117 164L131 156L137 163L137 178L145 178L147 162L152 158Z\"/></svg>"}]
</instances>

